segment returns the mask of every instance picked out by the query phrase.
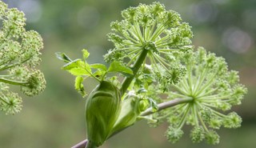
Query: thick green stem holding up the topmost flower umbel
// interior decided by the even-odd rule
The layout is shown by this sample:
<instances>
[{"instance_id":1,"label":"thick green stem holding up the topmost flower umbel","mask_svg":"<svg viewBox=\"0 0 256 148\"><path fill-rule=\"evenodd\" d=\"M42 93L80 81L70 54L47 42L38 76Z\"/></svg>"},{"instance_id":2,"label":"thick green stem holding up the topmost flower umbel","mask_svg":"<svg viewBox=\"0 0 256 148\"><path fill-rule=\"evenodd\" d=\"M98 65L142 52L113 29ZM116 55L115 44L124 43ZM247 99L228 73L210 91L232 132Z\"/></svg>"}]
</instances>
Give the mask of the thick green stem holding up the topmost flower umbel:
<instances>
[{"instance_id":1,"label":"thick green stem holding up the topmost flower umbel","mask_svg":"<svg viewBox=\"0 0 256 148\"><path fill-rule=\"evenodd\" d=\"M122 88L121 88L121 92L122 94L124 94L127 90L127 88L130 86L130 82L133 81L134 76L138 73L138 70L141 68L142 63L145 61L146 59L146 54L148 53L149 50L142 50L142 54L139 55L139 57L137 58L136 62L134 63L134 66L132 67L133 73L134 75L131 77L126 77L124 79L124 81L122 82Z\"/></svg>"}]
</instances>

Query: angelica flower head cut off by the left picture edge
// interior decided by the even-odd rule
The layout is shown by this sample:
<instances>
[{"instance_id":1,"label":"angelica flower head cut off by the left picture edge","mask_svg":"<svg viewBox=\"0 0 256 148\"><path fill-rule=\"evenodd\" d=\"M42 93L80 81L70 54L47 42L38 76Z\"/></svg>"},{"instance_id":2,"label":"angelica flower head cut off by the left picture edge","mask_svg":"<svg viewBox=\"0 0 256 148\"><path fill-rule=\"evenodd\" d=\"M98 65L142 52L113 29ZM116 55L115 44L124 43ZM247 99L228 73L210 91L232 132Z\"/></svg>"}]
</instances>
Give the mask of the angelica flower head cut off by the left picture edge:
<instances>
[{"instance_id":1,"label":"angelica flower head cut off by the left picture edge","mask_svg":"<svg viewBox=\"0 0 256 148\"><path fill-rule=\"evenodd\" d=\"M45 78L35 66L41 62L42 38L26 30L22 11L8 8L0 1L0 110L16 114L22 110L22 98L10 90L20 86L23 94L34 96L46 87Z\"/></svg>"}]
</instances>

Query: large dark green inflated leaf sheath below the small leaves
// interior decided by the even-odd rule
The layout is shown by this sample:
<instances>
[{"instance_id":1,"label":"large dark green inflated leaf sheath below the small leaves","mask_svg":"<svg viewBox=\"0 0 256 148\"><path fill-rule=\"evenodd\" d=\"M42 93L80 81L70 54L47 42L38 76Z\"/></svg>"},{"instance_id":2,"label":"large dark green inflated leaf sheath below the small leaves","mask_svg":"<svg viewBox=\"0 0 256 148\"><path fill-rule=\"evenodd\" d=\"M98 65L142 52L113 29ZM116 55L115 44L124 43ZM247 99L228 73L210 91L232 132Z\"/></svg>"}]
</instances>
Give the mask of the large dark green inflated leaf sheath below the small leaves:
<instances>
[{"instance_id":1,"label":"large dark green inflated leaf sheath below the small leaves","mask_svg":"<svg viewBox=\"0 0 256 148\"><path fill-rule=\"evenodd\" d=\"M101 146L110 136L121 109L121 94L116 86L102 81L86 101L87 138Z\"/></svg>"}]
</instances>

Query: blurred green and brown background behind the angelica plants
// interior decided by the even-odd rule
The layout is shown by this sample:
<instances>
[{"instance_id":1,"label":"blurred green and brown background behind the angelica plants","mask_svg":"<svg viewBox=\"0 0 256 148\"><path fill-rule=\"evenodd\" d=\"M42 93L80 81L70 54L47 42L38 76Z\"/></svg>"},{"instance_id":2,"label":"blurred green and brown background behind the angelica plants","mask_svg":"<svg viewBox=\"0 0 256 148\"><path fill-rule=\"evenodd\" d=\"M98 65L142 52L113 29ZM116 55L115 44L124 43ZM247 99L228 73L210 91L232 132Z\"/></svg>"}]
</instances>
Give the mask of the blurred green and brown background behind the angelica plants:
<instances>
[{"instance_id":1,"label":"blurred green and brown background behind the angelica plants","mask_svg":"<svg viewBox=\"0 0 256 148\"><path fill-rule=\"evenodd\" d=\"M121 10L153 0L9 0L10 7L23 10L27 30L37 30L44 39L40 69L46 90L35 98L23 96L23 110L14 116L0 113L0 148L67 148L85 138L84 104L74 90L74 77L61 70L54 57L65 52L81 58L90 52L90 63L103 62L102 55L113 47L107 41L110 22L121 19ZM194 46L226 58L230 69L240 71L249 93L242 106L237 130L219 130L221 142L209 146L190 142L188 130L177 144L166 141L165 124L150 128L146 122L110 138L102 148L254 148L256 146L256 1L255 0L161 0L166 9L178 11L194 31ZM91 90L95 82L86 82Z\"/></svg>"}]
</instances>

